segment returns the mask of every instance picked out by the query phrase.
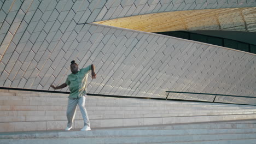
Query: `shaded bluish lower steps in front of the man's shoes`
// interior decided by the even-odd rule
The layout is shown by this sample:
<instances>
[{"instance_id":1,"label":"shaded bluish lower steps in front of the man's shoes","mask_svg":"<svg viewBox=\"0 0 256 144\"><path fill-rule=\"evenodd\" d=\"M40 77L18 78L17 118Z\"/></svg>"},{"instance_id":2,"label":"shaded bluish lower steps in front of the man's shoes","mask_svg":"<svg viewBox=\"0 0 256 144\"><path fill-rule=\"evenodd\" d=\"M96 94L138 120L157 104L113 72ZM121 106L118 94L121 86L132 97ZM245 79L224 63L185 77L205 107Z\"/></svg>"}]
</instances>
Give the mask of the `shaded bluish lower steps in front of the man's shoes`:
<instances>
[{"instance_id":1,"label":"shaded bluish lower steps in front of the man's shoes","mask_svg":"<svg viewBox=\"0 0 256 144\"><path fill-rule=\"evenodd\" d=\"M229 133L230 132L230 133ZM166 143L255 139L255 129L236 130L92 130L1 135L1 143Z\"/></svg>"}]
</instances>

